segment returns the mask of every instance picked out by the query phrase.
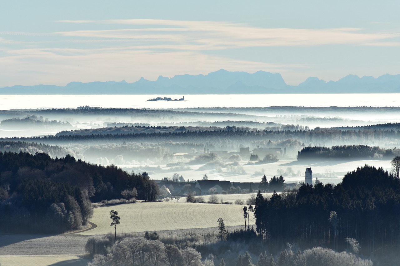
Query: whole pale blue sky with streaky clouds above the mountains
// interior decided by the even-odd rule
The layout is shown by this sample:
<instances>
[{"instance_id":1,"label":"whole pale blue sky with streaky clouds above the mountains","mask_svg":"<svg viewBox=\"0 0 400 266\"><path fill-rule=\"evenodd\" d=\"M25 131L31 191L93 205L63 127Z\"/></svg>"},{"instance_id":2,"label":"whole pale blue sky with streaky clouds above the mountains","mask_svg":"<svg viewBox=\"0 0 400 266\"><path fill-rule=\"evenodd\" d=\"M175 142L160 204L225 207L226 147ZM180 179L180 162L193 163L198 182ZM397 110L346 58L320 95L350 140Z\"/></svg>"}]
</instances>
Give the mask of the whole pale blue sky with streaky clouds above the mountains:
<instances>
[{"instance_id":1,"label":"whole pale blue sky with streaky clouds above the mountains","mask_svg":"<svg viewBox=\"0 0 400 266\"><path fill-rule=\"evenodd\" d=\"M400 1L3 0L0 87L135 82L226 69L400 73Z\"/></svg>"}]
</instances>

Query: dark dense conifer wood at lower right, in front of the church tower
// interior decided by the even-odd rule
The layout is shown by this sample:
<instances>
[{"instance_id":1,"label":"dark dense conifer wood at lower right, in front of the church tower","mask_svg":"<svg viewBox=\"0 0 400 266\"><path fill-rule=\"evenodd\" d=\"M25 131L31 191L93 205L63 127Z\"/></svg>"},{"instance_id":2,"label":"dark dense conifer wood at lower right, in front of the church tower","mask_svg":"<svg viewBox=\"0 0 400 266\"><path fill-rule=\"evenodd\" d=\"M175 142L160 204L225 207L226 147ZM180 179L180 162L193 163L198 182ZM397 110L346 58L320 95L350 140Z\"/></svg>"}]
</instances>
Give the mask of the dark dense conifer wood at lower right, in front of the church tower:
<instances>
[{"instance_id":1,"label":"dark dense conifer wood at lower right, in front of the church tower","mask_svg":"<svg viewBox=\"0 0 400 266\"><path fill-rule=\"evenodd\" d=\"M369 256L396 248L400 241L400 182L388 171L365 165L342 183L303 184L297 190L256 197L256 230L270 247L287 242L302 247L347 248L346 238Z\"/></svg>"}]
</instances>

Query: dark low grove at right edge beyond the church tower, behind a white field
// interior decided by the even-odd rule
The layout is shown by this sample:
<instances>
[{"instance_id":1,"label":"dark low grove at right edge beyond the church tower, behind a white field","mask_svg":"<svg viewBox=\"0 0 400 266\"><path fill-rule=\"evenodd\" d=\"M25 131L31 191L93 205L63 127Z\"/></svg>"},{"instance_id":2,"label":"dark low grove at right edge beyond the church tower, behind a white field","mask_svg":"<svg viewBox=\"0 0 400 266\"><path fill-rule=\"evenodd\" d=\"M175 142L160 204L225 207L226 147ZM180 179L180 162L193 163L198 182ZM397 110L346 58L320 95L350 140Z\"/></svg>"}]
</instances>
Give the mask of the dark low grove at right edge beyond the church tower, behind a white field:
<instances>
[{"instance_id":1,"label":"dark low grove at right edge beyond the church tower, behind a white field","mask_svg":"<svg viewBox=\"0 0 400 266\"><path fill-rule=\"evenodd\" d=\"M324 160L324 159L380 159L392 158L400 155L400 149L381 149L368 145L340 145L333 147L304 147L297 154L297 160Z\"/></svg>"}]
</instances>

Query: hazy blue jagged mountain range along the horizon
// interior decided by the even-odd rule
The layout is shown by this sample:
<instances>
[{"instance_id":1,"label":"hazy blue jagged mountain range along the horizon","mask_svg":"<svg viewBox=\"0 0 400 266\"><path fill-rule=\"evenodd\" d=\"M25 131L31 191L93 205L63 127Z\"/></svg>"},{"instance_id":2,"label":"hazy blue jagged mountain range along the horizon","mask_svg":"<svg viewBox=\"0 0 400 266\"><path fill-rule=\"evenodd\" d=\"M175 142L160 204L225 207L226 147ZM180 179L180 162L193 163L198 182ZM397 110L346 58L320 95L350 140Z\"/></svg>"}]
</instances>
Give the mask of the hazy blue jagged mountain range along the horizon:
<instances>
[{"instance_id":1,"label":"hazy blue jagged mountain range along the horizon","mask_svg":"<svg viewBox=\"0 0 400 266\"><path fill-rule=\"evenodd\" d=\"M0 88L0 94L275 94L275 93L400 93L400 74L358 77L348 75L338 81L309 77L298 86L287 85L279 73L230 72L224 69L207 75L143 77L126 81L71 82L66 86L34 85Z\"/></svg>"}]
</instances>

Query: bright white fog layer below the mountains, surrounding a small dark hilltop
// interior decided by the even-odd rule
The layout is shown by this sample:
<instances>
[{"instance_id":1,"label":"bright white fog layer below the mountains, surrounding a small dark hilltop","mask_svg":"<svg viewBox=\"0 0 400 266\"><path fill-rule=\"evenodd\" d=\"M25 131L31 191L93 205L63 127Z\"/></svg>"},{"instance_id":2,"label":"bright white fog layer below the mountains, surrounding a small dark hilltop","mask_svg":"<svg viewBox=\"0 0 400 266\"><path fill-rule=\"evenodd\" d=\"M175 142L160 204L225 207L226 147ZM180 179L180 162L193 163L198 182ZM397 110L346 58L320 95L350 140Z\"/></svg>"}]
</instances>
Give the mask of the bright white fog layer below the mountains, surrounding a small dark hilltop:
<instances>
[{"instance_id":1,"label":"bright white fog layer below the mountains, surrounding a small dark hilltop","mask_svg":"<svg viewBox=\"0 0 400 266\"><path fill-rule=\"evenodd\" d=\"M147 101L170 97L185 101ZM373 106L398 107L400 93L363 94L226 94L226 95L0 95L0 110L76 108L268 107L268 106Z\"/></svg>"}]
</instances>

